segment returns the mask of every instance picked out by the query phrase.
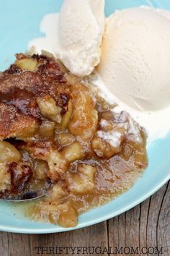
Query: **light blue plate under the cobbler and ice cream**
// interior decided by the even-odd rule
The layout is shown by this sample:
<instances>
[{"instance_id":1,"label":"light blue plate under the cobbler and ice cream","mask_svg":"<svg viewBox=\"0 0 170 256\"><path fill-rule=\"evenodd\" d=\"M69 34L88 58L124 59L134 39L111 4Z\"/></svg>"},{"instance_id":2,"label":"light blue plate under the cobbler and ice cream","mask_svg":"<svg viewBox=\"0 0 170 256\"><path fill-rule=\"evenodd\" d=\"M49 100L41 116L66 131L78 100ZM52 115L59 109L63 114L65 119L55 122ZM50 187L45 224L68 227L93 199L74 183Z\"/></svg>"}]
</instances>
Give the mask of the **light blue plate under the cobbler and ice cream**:
<instances>
[{"instance_id":1,"label":"light blue plate under the cobbler and ice cream","mask_svg":"<svg viewBox=\"0 0 170 256\"><path fill-rule=\"evenodd\" d=\"M42 17L50 12L59 12L62 0L1 0L0 1L0 70L9 67L14 61L14 54L27 50L27 42L40 36L39 25ZM115 9L153 5L170 9L169 0L106 0L106 14ZM135 186L100 208L95 208L79 217L80 229L133 208L146 200L170 178L170 135L164 140L157 140L148 148L149 166ZM0 202L0 230L17 233L53 233L68 231L60 226L29 221L23 216L14 215L9 203Z\"/></svg>"}]
</instances>

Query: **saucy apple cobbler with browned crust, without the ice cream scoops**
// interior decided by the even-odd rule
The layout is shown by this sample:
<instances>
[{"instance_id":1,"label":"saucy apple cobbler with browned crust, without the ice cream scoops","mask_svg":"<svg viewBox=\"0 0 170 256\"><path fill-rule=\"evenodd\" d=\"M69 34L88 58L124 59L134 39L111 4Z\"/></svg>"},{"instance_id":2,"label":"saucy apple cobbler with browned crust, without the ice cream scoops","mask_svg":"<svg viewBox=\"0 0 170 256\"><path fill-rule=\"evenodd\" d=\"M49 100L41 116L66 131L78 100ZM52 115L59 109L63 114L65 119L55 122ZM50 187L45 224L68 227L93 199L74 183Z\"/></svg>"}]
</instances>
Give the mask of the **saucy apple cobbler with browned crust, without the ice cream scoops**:
<instances>
[{"instance_id":1,"label":"saucy apple cobbler with browned crust, without the ice cream scoops","mask_svg":"<svg viewBox=\"0 0 170 256\"><path fill-rule=\"evenodd\" d=\"M52 56L17 54L0 74L0 105L0 195L51 187L27 212L35 220L76 226L147 166L144 130Z\"/></svg>"}]
</instances>

